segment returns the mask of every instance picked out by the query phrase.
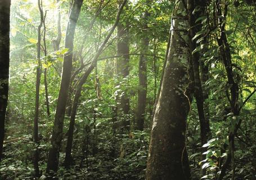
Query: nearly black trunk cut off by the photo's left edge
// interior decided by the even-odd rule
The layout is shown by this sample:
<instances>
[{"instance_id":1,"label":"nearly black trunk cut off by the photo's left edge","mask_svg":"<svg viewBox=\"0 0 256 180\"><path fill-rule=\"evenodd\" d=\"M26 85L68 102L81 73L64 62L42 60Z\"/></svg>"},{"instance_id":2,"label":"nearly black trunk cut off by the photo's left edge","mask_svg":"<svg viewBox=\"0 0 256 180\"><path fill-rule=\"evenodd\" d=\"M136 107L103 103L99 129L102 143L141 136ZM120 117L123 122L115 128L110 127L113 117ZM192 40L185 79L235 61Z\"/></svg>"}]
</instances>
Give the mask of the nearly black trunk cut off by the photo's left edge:
<instances>
[{"instance_id":1,"label":"nearly black trunk cut off by the photo's left edge","mask_svg":"<svg viewBox=\"0 0 256 180\"><path fill-rule=\"evenodd\" d=\"M5 117L9 89L11 0L0 1L0 161L5 137Z\"/></svg>"}]
</instances>

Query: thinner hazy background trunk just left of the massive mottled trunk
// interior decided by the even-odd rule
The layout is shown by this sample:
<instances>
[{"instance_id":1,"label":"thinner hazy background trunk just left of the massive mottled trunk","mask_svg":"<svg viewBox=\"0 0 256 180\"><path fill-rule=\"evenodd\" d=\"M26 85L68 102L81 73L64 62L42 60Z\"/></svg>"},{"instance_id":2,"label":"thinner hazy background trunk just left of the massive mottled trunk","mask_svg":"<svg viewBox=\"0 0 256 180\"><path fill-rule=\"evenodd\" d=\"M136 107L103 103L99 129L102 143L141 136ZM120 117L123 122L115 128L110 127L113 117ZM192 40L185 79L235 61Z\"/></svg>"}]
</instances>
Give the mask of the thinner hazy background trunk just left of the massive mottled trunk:
<instances>
[{"instance_id":1,"label":"thinner hazy background trunk just left of the massive mottled trunk","mask_svg":"<svg viewBox=\"0 0 256 180\"><path fill-rule=\"evenodd\" d=\"M149 5L149 2L147 2ZM144 19L147 20L149 12L146 10ZM138 89L138 106L136 115L136 129L142 131L144 128L145 121L145 110L146 110L146 99L147 99L147 56L149 51L149 38L147 37L147 22L143 27L144 37L141 39L141 56L138 65L138 78L139 78L139 89Z\"/></svg>"}]
</instances>

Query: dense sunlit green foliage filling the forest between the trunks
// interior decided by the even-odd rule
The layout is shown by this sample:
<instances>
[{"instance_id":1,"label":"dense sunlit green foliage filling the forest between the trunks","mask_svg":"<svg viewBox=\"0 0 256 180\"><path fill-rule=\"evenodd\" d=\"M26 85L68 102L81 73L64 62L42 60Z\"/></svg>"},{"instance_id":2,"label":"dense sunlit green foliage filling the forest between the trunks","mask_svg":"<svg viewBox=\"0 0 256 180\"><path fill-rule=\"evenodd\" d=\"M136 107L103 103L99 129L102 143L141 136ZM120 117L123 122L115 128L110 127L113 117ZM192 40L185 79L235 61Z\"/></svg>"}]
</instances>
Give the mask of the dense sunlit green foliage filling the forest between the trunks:
<instances>
[{"instance_id":1,"label":"dense sunlit green foliage filling the forest between the trunks","mask_svg":"<svg viewBox=\"0 0 256 180\"><path fill-rule=\"evenodd\" d=\"M69 52L65 48L65 29L69 20L70 3L62 0L43 1L44 24L41 41L41 84L39 88L39 145L33 140L35 116L35 74L38 67L37 44L40 13L37 1L12 1L10 96L8 99L4 158L0 164L0 179L36 179L33 167L34 152L39 151L40 179L44 179L55 110L61 82L62 62ZM71 167L64 167L68 139L70 109L75 89L83 73L98 51L115 22L116 0L84 1L75 30L73 50L73 79L69 88L64 117L63 140L60 147L60 179L145 179L150 132L164 69L169 29L174 2L168 0L129 1L120 24L128 29L129 74L116 73L116 33L97 59L97 65L82 86L75 118ZM216 12L217 6L223 14ZM227 6L228 4L228 6ZM256 3L255 1L208 1L206 13L196 22L201 28L192 39L200 54L200 75L204 93L205 118L209 120L208 142L201 144L199 113L196 98L190 104L187 118L186 146L192 179L218 179L230 145L228 135L235 135L233 158L224 179L256 178ZM227 9L226 9L227 8ZM194 13L199 11L195 8ZM145 13L149 17L145 18ZM61 15L61 43L56 50L58 13ZM220 20L223 20L221 22ZM233 79L239 87L234 115L231 107L228 74L218 39L225 25L230 48ZM146 26L145 26L146 25ZM146 30L145 30L146 28ZM43 34L46 33L45 39ZM136 128L138 71L142 56L143 38L149 38L146 53L147 96L143 131ZM85 68L84 68L85 66ZM77 71L80 68L80 71ZM44 74L46 69L46 74ZM75 73L78 72L76 75ZM44 77L48 87L50 115L47 114ZM232 88L231 88L232 89ZM120 114L120 98L128 96L129 114ZM120 128L122 120L130 122L129 131ZM236 129L237 124L239 127ZM203 148L202 148L203 146ZM231 146L231 145L230 145ZM233 169L233 171L232 171Z\"/></svg>"}]
</instances>

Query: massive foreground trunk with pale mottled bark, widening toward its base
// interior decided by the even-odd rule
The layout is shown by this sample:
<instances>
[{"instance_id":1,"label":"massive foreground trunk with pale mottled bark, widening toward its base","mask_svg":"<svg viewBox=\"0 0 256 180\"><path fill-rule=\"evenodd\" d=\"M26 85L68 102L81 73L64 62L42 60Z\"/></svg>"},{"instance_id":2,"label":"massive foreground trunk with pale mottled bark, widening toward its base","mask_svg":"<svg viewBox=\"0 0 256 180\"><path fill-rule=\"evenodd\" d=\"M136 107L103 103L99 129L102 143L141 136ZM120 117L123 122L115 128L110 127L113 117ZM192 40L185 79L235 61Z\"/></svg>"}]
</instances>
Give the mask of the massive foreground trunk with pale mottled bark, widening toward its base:
<instances>
[{"instance_id":1,"label":"massive foreground trunk with pale mottled bark, widening toward its base","mask_svg":"<svg viewBox=\"0 0 256 180\"><path fill-rule=\"evenodd\" d=\"M185 143L191 102L186 1L176 1L171 29L167 64L151 131L147 180L191 179Z\"/></svg>"}]
</instances>

